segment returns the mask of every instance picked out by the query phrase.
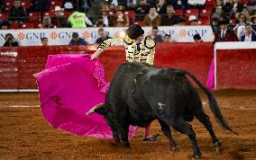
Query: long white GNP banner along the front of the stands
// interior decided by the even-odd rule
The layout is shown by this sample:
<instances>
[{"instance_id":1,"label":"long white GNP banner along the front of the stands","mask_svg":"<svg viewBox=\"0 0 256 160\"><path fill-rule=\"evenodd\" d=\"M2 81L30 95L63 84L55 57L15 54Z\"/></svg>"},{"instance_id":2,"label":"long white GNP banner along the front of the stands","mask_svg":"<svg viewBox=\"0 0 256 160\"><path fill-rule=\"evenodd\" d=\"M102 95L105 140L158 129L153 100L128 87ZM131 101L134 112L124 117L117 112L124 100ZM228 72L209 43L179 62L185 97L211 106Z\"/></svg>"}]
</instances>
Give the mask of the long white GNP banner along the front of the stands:
<instances>
[{"instance_id":1,"label":"long white GNP banner along the front of the stands","mask_svg":"<svg viewBox=\"0 0 256 160\"><path fill-rule=\"evenodd\" d=\"M41 38L47 37L49 45L68 45L72 37L72 32L79 33L79 37L87 40L87 43L94 44L98 38L97 30L99 28L85 28L85 29L23 29L23 30L1 30L0 31L0 45L5 43L5 35L11 33L14 38L20 41L21 46L41 46ZM105 32L110 37L118 37L126 28L120 27L105 27ZM145 36L151 33L151 27L143 27ZM171 40L177 42L192 42L195 34L200 34L202 40L213 41L215 36L211 26L169 26L159 27L160 34L169 34Z\"/></svg>"}]
</instances>

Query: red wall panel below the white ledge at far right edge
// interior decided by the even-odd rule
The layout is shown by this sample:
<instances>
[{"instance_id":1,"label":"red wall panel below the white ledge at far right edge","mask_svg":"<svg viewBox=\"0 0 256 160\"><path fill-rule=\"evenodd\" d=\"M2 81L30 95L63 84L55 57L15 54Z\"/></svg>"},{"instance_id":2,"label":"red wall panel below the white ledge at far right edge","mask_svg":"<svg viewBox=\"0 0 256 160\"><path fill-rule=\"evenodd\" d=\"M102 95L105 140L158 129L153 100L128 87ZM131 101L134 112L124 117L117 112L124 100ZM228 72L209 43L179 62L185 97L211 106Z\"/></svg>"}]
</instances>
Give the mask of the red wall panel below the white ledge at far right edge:
<instances>
[{"instance_id":1,"label":"red wall panel below the white ledge at far right edge","mask_svg":"<svg viewBox=\"0 0 256 160\"><path fill-rule=\"evenodd\" d=\"M217 89L256 89L256 49L217 50Z\"/></svg>"}]
</instances>

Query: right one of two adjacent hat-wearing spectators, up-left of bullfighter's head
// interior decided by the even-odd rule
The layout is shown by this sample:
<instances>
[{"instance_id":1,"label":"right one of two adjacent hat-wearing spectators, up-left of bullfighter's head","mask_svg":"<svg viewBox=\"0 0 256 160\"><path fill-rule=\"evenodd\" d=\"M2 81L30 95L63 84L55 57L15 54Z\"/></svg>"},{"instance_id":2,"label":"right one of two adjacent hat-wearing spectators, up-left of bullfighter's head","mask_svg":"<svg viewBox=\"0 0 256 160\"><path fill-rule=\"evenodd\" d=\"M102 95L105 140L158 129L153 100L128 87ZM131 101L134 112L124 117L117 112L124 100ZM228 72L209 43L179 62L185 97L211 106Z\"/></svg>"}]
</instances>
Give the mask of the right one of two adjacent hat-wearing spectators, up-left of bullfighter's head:
<instances>
[{"instance_id":1,"label":"right one of two adjacent hat-wearing spectators, up-left of bullfighter's head","mask_svg":"<svg viewBox=\"0 0 256 160\"><path fill-rule=\"evenodd\" d=\"M116 16L114 16L114 26L121 25L123 23L124 26L128 26L130 24L129 16L123 14L123 6L116 6L115 12Z\"/></svg>"}]
</instances>

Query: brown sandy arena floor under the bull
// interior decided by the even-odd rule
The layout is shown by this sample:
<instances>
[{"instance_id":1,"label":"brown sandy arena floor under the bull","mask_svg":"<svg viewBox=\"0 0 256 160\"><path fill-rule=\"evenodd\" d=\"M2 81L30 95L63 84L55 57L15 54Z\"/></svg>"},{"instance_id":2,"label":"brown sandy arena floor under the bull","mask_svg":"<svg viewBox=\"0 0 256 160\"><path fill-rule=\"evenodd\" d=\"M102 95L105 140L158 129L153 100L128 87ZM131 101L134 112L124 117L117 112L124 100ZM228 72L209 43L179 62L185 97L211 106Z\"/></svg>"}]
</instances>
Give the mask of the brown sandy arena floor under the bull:
<instances>
[{"instance_id":1,"label":"brown sandy arena floor under the bull","mask_svg":"<svg viewBox=\"0 0 256 160\"><path fill-rule=\"evenodd\" d=\"M239 136L224 131L213 118L206 97L206 113L211 117L217 137L223 142L217 155L206 129L197 120L192 125L197 134L201 159L256 160L256 91L225 90L215 92L225 119ZM153 134L158 142L142 141L139 129L131 149L113 147L95 138L82 138L52 129L41 116L37 93L0 93L0 159L191 159L192 147L187 136L173 131L180 148L173 153L157 121Z\"/></svg>"}]
</instances>

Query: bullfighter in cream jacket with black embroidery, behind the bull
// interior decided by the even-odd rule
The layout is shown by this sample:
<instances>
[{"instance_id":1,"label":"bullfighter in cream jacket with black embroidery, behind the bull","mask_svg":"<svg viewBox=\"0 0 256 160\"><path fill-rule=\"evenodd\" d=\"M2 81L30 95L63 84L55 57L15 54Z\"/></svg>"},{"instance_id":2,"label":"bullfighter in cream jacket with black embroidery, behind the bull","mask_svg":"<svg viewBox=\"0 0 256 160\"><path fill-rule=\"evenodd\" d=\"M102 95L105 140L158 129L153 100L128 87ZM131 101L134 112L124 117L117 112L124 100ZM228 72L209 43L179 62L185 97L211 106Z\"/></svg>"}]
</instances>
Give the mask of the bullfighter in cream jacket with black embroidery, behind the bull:
<instances>
[{"instance_id":1,"label":"bullfighter in cream jacket with black embroidery, behind the bull","mask_svg":"<svg viewBox=\"0 0 256 160\"><path fill-rule=\"evenodd\" d=\"M133 25L126 30L123 38L108 39L102 42L91 56L91 60L98 58L99 55L109 46L122 45L126 52L126 61L128 62L145 62L149 65L154 63L155 43L151 38L143 40L144 31L140 25ZM151 124L144 132L144 140L155 141L157 136L151 136Z\"/></svg>"}]
</instances>

